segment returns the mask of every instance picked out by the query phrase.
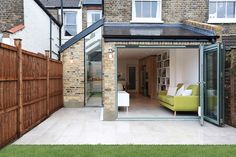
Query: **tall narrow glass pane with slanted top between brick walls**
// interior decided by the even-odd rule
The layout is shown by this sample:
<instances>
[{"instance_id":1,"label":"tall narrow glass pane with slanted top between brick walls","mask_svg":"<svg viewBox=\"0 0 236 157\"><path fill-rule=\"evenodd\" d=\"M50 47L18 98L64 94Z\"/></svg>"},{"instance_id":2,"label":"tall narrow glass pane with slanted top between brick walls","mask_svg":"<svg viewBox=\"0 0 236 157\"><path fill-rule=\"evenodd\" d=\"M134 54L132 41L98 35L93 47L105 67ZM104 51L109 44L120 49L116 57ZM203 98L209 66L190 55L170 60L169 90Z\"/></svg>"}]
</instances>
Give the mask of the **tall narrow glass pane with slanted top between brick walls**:
<instances>
[{"instance_id":1,"label":"tall narrow glass pane with slanted top between brick walls","mask_svg":"<svg viewBox=\"0 0 236 157\"><path fill-rule=\"evenodd\" d=\"M101 28L85 38L86 106L102 106Z\"/></svg>"}]
</instances>

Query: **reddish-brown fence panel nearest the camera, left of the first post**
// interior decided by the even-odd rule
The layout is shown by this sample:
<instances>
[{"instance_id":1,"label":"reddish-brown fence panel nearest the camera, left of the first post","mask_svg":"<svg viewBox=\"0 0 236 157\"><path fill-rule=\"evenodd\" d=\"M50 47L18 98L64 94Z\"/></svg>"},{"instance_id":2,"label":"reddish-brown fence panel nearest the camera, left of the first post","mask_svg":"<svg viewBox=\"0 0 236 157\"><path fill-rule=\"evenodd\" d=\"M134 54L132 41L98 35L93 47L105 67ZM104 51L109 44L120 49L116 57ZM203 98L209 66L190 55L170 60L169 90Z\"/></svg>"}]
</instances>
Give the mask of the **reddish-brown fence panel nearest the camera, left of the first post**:
<instances>
[{"instance_id":1,"label":"reddish-brown fence panel nearest the camera, left of the first post","mask_svg":"<svg viewBox=\"0 0 236 157\"><path fill-rule=\"evenodd\" d=\"M17 137L17 50L0 43L0 147Z\"/></svg>"}]
</instances>

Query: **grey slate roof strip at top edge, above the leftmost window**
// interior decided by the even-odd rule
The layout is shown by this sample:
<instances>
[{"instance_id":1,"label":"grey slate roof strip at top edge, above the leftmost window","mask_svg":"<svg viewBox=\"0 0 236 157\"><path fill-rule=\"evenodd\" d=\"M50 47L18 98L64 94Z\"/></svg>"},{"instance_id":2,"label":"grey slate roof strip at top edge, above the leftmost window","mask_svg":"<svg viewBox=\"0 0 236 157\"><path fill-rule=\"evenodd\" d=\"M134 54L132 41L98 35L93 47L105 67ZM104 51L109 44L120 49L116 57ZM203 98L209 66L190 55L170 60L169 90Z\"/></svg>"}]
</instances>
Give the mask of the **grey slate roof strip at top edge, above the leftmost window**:
<instances>
[{"instance_id":1,"label":"grey slate roof strip at top edge, above the leftmost window","mask_svg":"<svg viewBox=\"0 0 236 157\"><path fill-rule=\"evenodd\" d=\"M61 0L40 0L46 8L60 8ZM64 8L80 8L80 0L63 0Z\"/></svg>"}]
</instances>

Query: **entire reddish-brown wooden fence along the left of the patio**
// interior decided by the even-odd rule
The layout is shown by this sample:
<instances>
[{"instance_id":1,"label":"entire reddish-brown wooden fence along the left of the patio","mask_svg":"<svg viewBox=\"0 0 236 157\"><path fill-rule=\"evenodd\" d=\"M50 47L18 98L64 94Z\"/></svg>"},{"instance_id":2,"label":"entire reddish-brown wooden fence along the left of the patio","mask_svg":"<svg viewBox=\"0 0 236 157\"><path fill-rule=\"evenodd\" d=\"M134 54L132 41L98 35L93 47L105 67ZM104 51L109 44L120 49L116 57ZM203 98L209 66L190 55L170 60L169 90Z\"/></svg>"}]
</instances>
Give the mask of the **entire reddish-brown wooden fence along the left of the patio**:
<instances>
[{"instance_id":1,"label":"entire reddish-brown wooden fence along the left of the patio","mask_svg":"<svg viewBox=\"0 0 236 157\"><path fill-rule=\"evenodd\" d=\"M0 43L0 147L63 106L62 63Z\"/></svg>"}]
</instances>

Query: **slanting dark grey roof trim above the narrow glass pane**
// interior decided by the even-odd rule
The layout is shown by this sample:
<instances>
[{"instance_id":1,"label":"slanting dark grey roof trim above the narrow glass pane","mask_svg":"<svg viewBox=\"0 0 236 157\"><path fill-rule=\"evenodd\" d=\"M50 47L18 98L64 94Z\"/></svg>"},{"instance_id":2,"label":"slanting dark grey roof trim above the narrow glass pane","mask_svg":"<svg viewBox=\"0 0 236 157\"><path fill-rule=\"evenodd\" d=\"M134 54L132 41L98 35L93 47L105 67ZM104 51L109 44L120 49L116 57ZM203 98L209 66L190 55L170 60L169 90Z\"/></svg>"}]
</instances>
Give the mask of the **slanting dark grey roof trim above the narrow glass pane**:
<instances>
[{"instance_id":1,"label":"slanting dark grey roof trim above the narrow glass pane","mask_svg":"<svg viewBox=\"0 0 236 157\"><path fill-rule=\"evenodd\" d=\"M89 26L88 28L84 29L82 32L80 32L79 34L77 34L76 36L68 40L64 45L62 45L59 52L63 52L64 50L66 50L67 48L69 48L70 46L78 42L79 40L83 39L84 37L92 33L93 31L103 26L103 24L104 24L104 19L101 19L97 21L96 23L94 23L93 25Z\"/></svg>"}]
</instances>

